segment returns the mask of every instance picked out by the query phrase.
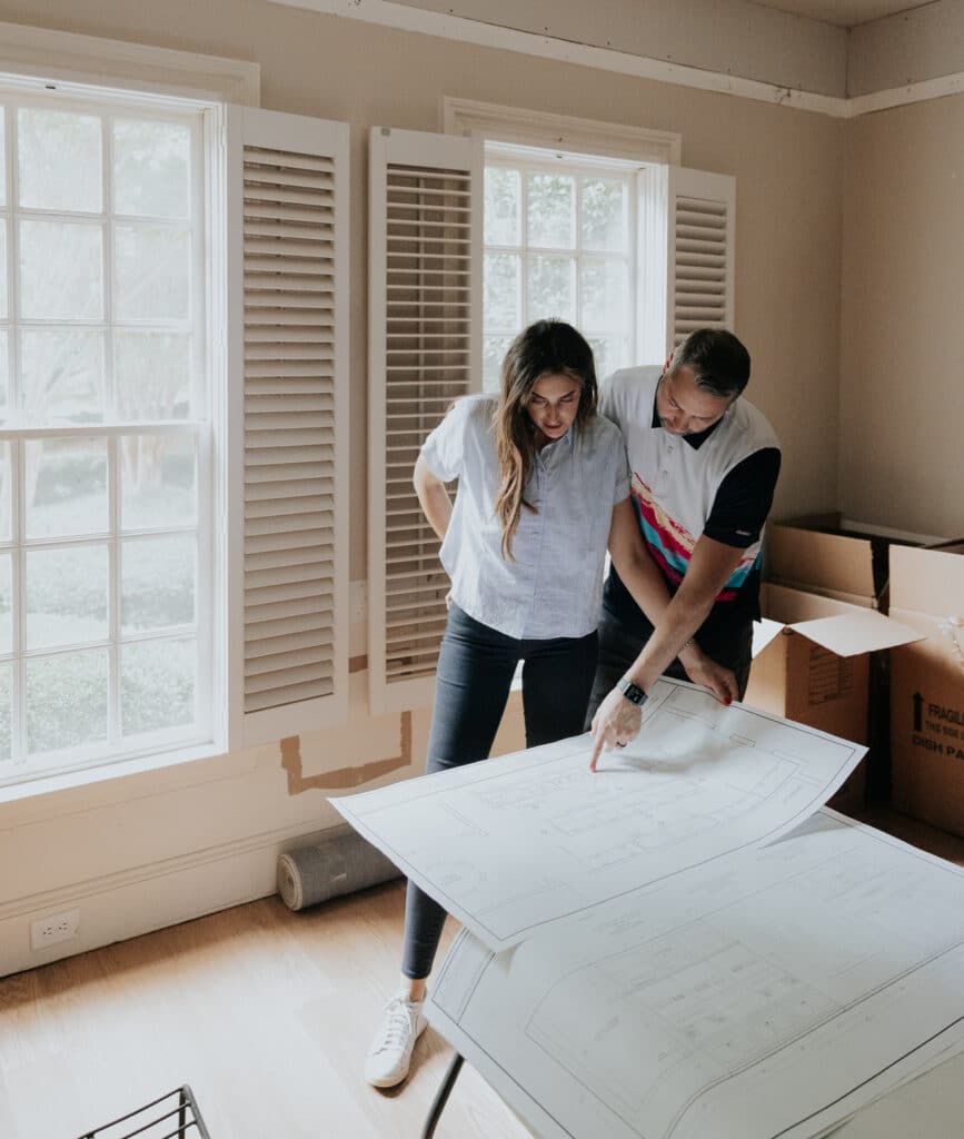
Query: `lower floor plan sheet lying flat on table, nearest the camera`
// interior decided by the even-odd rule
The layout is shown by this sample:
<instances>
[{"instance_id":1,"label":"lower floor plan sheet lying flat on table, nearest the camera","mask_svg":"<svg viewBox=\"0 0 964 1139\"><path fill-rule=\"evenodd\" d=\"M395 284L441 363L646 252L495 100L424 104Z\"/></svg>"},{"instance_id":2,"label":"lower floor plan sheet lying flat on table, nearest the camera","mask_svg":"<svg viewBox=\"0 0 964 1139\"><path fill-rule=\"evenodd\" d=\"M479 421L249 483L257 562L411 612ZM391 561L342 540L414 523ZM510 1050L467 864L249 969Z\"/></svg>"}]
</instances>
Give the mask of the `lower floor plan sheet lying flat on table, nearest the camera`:
<instances>
[{"instance_id":1,"label":"lower floor plan sheet lying flat on table, nearest the camera","mask_svg":"<svg viewBox=\"0 0 964 1139\"><path fill-rule=\"evenodd\" d=\"M463 932L429 1017L539 1139L811 1139L964 1047L964 870L822 811L565 936Z\"/></svg>"}]
</instances>

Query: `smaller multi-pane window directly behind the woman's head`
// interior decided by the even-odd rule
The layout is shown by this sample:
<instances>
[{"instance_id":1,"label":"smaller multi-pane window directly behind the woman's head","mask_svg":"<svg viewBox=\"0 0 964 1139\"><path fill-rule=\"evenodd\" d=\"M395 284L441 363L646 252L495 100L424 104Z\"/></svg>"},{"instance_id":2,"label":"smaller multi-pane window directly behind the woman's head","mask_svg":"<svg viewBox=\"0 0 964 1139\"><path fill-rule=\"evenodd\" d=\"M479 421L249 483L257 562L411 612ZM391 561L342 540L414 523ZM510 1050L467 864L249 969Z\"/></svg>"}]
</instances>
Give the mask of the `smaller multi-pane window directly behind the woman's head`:
<instances>
[{"instance_id":1,"label":"smaller multi-pane window directly behind the woman's head","mask_svg":"<svg viewBox=\"0 0 964 1139\"><path fill-rule=\"evenodd\" d=\"M513 336L541 318L583 333L600 379L636 362L638 169L534 147L486 147L486 391L497 390Z\"/></svg>"}]
</instances>

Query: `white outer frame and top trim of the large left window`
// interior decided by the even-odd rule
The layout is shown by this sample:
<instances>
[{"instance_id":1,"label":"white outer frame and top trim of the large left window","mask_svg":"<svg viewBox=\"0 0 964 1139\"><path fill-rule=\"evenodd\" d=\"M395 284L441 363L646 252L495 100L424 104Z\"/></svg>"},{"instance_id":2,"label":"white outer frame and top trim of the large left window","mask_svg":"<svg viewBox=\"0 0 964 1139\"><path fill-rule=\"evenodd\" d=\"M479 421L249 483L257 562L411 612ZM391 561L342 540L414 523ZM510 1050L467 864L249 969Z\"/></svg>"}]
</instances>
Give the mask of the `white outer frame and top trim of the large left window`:
<instances>
[{"instance_id":1,"label":"white outer frame and top trim of the large left window","mask_svg":"<svg viewBox=\"0 0 964 1139\"><path fill-rule=\"evenodd\" d=\"M71 761L59 765L18 764L16 773L0 775L0 797L18 798L48 788L75 786L206 759L226 748L228 575L224 532L229 472L223 462L228 440L226 345L223 331L228 310L224 113L228 103L258 105L259 67L240 60L6 23L0 24L0 81L8 90L19 89L31 95L56 91L61 97L77 99L94 96L98 101L114 97L127 108L139 106L142 110L153 108L155 113L160 107L170 108L175 104L198 112L203 117L201 150L205 163L198 169L204 169L207 175L199 204L205 237L204 247L197 248L196 255L204 259L207 265L198 303L205 306L207 313L203 351L208 376L208 445L199 446L197 478L199 489L208 487L206 495L199 495L198 531L211 535L211 541L206 556L199 556L198 574L199 579L206 576L211 581L208 596L213 598L213 616L208 624L208 657L220 662L219 667L209 670L205 678L207 693L204 698L213 713L205 731L198 734L193 743L182 738L165 744L158 737L153 746L139 751L125 749L116 757L99 754L91 760L72 751ZM112 428L115 435L138 429L137 425ZM100 426L92 427L90 433L110 435L112 431ZM191 432L192 427L174 424L170 431ZM110 445L114 446L113 443ZM205 498L206 509L203 505ZM15 505L14 509L17 508ZM116 509L116 503L112 503L112 509ZM18 620L17 614L14 620ZM198 680L200 686L201 678Z\"/></svg>"}]
</instances>

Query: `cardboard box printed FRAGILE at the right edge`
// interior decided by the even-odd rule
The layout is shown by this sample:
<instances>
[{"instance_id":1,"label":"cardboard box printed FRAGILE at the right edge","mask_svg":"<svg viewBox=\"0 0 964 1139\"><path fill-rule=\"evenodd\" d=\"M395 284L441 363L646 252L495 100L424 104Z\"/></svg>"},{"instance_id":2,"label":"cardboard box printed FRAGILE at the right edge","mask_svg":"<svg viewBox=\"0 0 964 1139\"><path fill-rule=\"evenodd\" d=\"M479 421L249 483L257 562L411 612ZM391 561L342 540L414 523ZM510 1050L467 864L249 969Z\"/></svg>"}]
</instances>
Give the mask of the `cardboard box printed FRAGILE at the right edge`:
<instances>
[{"instance_id":1,"label":"cardboard box printed FRAGILE at the right edge","mask_svg":"<svg viewBox=\"0 0 964 1139\"><path fill-rule=\"evenodd\" d=\"M964 543L891 554L891 613L924 637L891 657L891 797L964 835Z\"/></svg>"}]
</instances>

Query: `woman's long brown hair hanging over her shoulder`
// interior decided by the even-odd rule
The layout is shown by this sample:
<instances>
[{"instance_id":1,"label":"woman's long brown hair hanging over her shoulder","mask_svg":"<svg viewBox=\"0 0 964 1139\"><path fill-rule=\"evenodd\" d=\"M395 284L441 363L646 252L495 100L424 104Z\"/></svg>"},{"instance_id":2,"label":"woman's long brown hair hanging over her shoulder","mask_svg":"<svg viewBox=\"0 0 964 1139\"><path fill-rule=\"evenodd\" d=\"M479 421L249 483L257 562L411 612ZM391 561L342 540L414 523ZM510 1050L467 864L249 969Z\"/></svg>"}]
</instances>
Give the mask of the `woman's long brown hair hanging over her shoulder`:
<instances>
[{"instance_id":1,"label":"woman's long brown hair hanging over her shoulder","mask_svg":"<svg viewBox=\"0 0 964 1139\"><path fill-rule=\"evenodd\" d=\"M536 456L535 424L527 409L533 386L543 376L569 376L578 383L575 427L595 415L595 362L584 337L561 320L537 320L519 333L502 361L502 387L492 417L499 461L495 516L502 526L503 558L512 558L522 508L535 510L522 497Z\"/></svg>"}]
</instances>

